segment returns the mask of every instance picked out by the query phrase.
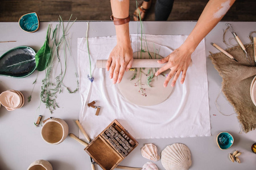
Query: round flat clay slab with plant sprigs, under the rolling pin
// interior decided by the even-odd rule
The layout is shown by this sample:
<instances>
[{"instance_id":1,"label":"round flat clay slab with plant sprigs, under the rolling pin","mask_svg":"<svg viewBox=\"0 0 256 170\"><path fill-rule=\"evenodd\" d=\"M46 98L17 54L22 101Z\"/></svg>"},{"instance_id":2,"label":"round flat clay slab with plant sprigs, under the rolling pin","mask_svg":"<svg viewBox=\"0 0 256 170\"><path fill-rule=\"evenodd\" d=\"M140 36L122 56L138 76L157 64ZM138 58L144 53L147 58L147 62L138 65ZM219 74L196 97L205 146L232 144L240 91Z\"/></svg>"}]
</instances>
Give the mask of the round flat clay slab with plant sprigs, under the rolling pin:
<instances>
[{"instance_id":1,"label":"round flat clay slab with plant sprigs, under the rolling pin","mask_svg":"<svg viewBox=\"0 0 256 170\"><path fill-rule=\"evenodd\" d=\"M150 54L153 58L155 58L154 53ZM135 52L133 54L133 57L138 58L138 55L140 56L140 53ZM145 52L143 53L143 57L147 59L149 58L149 54ZM156 58L160 57L156 54ZM143 72L141 73L141 83L138 81L140 69ZM166 76L158 75L156 77L155 68L152 68L154 78L152 78L152 81L150 82L151 87L149 87L147 85L147 79L152 74L152 70L149 74L148 70L151 70L151 68L145 68L144 70L142 68L137 68L137 76L133 80L131 80L131 78L134 77L135 71L127 71L123 75L122 81L118 84L118 88L121 94L133 104L142 106L156 105L168 99L172 92L173 87L171 86L171 82L173 78L170 80L170 83L167 87L163 87ZM168 74L169 72L170 70L166 70L165 74ZM139 84L141 84L141 87L139 86Z\"/></svg>"}]
</instances>

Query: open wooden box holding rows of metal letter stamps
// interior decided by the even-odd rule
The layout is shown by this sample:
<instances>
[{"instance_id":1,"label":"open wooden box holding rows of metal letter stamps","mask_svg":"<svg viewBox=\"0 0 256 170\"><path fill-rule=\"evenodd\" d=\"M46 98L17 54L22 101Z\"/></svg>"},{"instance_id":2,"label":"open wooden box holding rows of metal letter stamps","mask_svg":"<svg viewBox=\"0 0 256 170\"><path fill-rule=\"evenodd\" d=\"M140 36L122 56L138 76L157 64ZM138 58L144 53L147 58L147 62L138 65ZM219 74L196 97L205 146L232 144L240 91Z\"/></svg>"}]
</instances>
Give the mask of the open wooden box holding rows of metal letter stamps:
<instances>
[{"instance_id":1,"label":"open wooden box holding rows of metal letter stamps","mask_svg":"<svg viewBox=\"0 0 256 170\"><path fill-rule=\"evenodd\" d=\"M114 120L90 142L85 151L102 169L112 170L137 146L138 142Z\"/></svg>"}]
</instances>

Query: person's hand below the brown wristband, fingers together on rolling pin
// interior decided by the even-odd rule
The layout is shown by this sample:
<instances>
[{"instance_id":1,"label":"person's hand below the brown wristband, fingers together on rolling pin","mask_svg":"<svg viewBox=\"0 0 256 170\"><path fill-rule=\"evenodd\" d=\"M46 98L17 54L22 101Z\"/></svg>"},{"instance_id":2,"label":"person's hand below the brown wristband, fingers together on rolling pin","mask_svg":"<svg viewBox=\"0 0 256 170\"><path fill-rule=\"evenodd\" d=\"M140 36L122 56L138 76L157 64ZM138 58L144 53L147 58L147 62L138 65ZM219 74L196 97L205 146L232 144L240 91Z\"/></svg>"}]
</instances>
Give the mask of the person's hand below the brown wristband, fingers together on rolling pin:
<instances>
[{"instance_id":1,"label":"person's hand below the brown wristband, fingers together on rolling pin","mask_svg":"<svg viewBox=\"0 0 256 170\"><path fill-rule=\"evenodd\" d=\"M133 49L131 49L131 45L117 44L106 62L106 69L110 70L109 78L113 78L113 84L121 82L123 74L131 68L132 62Z\"/></svg>"}]
</instances>

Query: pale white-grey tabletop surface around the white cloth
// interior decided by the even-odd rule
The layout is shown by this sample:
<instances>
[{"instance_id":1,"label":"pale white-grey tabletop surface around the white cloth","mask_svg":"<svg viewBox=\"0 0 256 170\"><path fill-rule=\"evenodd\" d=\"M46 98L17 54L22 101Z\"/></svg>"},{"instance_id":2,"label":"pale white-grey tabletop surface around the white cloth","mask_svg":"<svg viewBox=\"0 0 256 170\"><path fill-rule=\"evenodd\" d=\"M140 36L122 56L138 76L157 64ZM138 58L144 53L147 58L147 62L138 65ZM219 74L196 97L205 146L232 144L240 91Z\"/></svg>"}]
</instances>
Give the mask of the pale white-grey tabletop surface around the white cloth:
<instances>
[{"instance_id":1,"label":"pale white-grey tabletop surface around the white cloth","mask_svg":"<svg viewBox=\"0 0 256 170\"><path fill-rule=\"evenodd\" d=\"M0 23L0 41L16 41L0 43L0 55L7 50L20 45L31 46L36 51L43 45L48 24L56 25L56 22L43 22L40 24L39 31L35 33L27 33L19 28L17 23ZM144 33L152 35L188 35L196 22L144 22ZM232 22L236 29L237 35L240 36L244 44L250 42L248 36L251 31L255 31L255 22ZM71 39L72 56L77 63L77 38L85 37L87 24L86 22L76 22L68 36ZM222 42L223 31L226 28L224 22L218 25L205 38L206 54L209 51L217 53L218 50L210 45L215 42L222 48L226 48ZM130 33L137 33L137 23L130 22ZM114 25L112 22L89 22L89 37L111 36L115 35ZM230 36L231 37L231 36ZM68 61L68 70L72 69L73 63ZM0 76L0 92L6 90L21 91L26 102L24 106L15 111L9 112L4 107L0 108L0 169L27 169L28 166L38 159L48 160L53 169L70 170L70 169L90 169L89 155L84 151L84 146L80 145L73 139L67 137L64 142L59 145L49 145L44 142L40 130L36 128L34 121L38 114L37 108L40 104L41 81L44 78L44 71L39 73L38 82L32 93L32 100L27 103L27 97L31 94L32 83L36 78L37 71L32 75L17 79ZM212 62L207 58L207 75L209 86L209 106L210 106L210 123L211 137L195 137L195 138L168 138L168 139L138 139L139 146L135 148L131 154L121 162L120 165L130 167L142 167L144 163L149 162L141 156L141 147L145 143L154 143L158 146L159 154L168 145L173 143L184 143L189 147L192 154L192 165L190 169L255 169L256 155L251 152L251 145L256 142L256 131L249 133L241 133L240 124L236 114L232 116L223 116L217 111L214 104L217 99L218 92L221 88L221 76L214 69ZM73 83L73 71L68 71L65 82L68 86L76 88ZM57 97L57 108L53 114L41 104L40 114L43 120L48 117L58 117L65 120L69 126L69 132L75 135L79 134L75 120L79 118L81 109L81 97L79 93L68 94L64 91ZM234 113L233 107L221 94L218 98L221 112L225 114ZM97 122L96 122L97 125ZM234 137L234 144L228 150L220 150L216 144L216 135L220 131L228 131ZM238 150L242 152L240 156L241 164L232 163L228 154ZM160 162L155 162L160 170L163 166ZM96 169L101 169L97 166Z\"/></svg>"}]
</instances>

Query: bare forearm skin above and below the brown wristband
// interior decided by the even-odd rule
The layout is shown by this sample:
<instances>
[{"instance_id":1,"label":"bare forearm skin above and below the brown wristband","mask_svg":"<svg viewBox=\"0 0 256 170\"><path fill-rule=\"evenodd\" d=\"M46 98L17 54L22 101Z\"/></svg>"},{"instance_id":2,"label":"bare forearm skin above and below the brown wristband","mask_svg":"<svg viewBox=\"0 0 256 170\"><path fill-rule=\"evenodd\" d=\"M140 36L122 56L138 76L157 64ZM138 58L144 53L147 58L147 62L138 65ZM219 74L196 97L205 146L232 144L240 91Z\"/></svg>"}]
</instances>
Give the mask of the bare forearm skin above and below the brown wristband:
<instances>
[{"instance_id":1,"label":"bare forearm skin above and below the brown wristband","mask_svg":"<svg viewBox=\"0 0 256 170\"><path fill-rule=\"evenodd\" d=\"M129 16L129 0L111 0L112 13L115 18L127 18ZM130 45L129 23L115 25L117 44Z\"/></svg>"}]
</instances>

